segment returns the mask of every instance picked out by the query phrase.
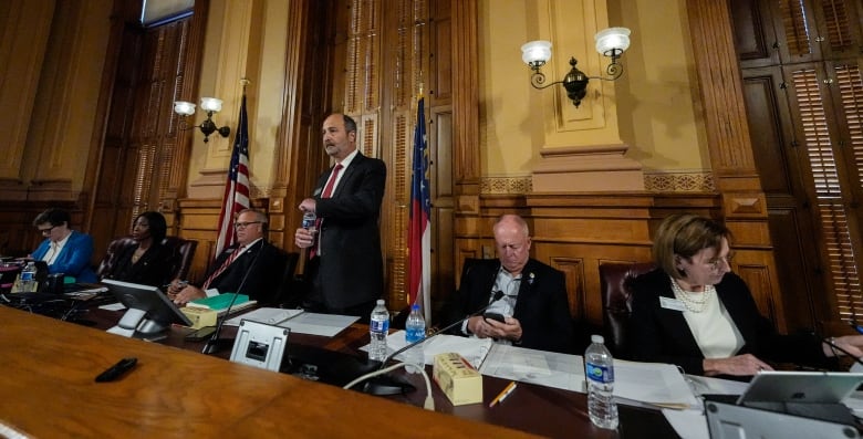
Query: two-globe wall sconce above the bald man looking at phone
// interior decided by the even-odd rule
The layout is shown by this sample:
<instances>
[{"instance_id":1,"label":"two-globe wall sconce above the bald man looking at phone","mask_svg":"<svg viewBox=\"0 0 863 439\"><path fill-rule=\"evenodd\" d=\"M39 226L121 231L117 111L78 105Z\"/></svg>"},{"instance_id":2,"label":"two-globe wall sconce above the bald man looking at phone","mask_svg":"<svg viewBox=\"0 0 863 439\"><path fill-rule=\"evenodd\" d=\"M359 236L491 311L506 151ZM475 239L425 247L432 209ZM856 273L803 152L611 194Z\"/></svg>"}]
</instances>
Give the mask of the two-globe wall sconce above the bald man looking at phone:
<instances>
[{"instance_id":1,"label":"two-globe wall sconce above the bald man looking at phone","mask_svg":"<svg viewBox=\"0 0 863 439\"><path fill-rule=\"evenodd\" d=\"M578 108L581 100L588 94L588 82L590 80L614 81L621 77L623 64L617 63L617 60L630 48L630 30L626 28L609 28L597 32L593 39L596 40L596 52L612 59L611 64L605 66L605 76L588 76L575 67L575 64L579 62L573 56L570 58L572 69L563 76L563 80L545 84L545 75L540 69L551 59L551 42L538 40L521 46L521 60L533 72L530 75L530 85L533 85L534 88L547 88L554 84L563 84L563 88L566 88L566 96L572 100L572 104Z\"/></svg>"}]
</instances>

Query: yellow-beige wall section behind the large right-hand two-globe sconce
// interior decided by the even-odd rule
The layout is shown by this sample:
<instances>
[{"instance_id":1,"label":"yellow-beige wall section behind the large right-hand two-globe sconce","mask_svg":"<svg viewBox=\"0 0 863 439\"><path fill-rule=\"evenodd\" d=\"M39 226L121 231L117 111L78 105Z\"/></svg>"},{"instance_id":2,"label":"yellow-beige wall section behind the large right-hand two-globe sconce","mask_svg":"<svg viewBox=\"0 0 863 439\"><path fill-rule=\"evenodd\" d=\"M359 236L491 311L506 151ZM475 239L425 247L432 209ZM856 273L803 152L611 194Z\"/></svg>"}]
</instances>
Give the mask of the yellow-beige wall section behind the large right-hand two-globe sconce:
<instances>
[{"instance_id":1,"label":"yellow-beige wall section behind the large right-hand two-globe sconce","mask_svg":"<svg viewBox=\"0 0 863 439\"><path fill-rule=\"evenodd\" d=\"M542 148L621 142L630 146L626 156L646 173L709 170L684 2L627 0L623 8L610 1L609 11L604 3L480 1L484 177L530 175ZM594 29L562 19L588 20L591 13L596 15L593 28L604 28L602 20L630 28L632 45L622 59L624 75L615 83L591 81L588 97L575 109L561 86L543 91L530 86L520 46L552 39L552 61L543 69L549 81L565 74L570 56L582 71L596 75L607 59L593 50Z\"/></svg>"}]
</instances>

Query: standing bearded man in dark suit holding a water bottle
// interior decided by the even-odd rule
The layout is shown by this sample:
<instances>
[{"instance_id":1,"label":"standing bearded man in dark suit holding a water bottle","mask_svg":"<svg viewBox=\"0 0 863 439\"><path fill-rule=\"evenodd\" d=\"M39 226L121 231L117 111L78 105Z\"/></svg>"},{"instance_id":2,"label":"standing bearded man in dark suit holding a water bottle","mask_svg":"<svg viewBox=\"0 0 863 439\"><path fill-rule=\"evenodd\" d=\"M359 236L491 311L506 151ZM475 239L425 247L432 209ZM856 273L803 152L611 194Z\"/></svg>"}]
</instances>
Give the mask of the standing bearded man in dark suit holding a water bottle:
<instances>
[{"instance_id":1,"label":"standing bearded man in dark suit holding a water bottle","mask_svg":"<svg viewBox=\"0 0 863 439\"><path fill-rule=\"evenodd\" d=\"M305 275L311 285L303 307L368 320L384 290L378 222L386 165L356 149L356 123L349 116L326 117L322 135L335 165L299 206L316 215L316 230L294 233L297 247L310 249Z\"/></svg>"}]
</instances>

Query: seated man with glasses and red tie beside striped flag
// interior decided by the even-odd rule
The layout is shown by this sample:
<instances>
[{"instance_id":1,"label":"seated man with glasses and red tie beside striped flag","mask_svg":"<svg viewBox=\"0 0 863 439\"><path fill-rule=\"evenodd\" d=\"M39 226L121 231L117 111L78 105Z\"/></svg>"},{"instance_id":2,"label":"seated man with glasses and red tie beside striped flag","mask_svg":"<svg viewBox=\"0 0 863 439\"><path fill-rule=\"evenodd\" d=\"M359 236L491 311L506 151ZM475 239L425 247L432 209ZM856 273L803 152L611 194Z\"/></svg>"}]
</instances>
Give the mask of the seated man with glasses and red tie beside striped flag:
<instances>
[{"instance_id":1,"label":"seated man with glasses and red tie beside striped flag","mask_svg":"<svg viewBox=\"0 0 863 439\"><path fill-rule=\"evenodd\" d=\"M233 222L237 242L225 249L210 264L200 286L175 280L168 286L168 297L178 305L207 296L206 291L247 294L259 304L272 304L279 291L288 253L267 242L267 216L245 209Z\"/></svg>"}]
</instances>

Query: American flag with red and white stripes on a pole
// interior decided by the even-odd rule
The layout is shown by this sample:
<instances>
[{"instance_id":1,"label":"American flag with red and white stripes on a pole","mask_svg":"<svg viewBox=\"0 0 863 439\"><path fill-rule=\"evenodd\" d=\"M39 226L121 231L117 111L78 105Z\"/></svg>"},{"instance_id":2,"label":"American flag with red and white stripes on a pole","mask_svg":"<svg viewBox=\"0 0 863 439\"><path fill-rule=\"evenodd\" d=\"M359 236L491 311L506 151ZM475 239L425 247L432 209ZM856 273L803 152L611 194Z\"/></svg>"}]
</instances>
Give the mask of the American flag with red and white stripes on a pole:
<instances>
[{"instance_id":1,"label":"American flag with red and white stripes on a pole","mask_svg":"<svg viewBox=\"0 0 863 439\"><path fill-rule=\"evenodd\" d=\"M249 123L246 116L246 94L240 104L240 122L233 137L231 167L225 185L221 213L219 213L219 239L216 241L216 257L233 244L237 237L233 219L242 209L249 208Z\"/></svg>"}]
</instances>

